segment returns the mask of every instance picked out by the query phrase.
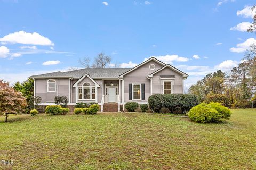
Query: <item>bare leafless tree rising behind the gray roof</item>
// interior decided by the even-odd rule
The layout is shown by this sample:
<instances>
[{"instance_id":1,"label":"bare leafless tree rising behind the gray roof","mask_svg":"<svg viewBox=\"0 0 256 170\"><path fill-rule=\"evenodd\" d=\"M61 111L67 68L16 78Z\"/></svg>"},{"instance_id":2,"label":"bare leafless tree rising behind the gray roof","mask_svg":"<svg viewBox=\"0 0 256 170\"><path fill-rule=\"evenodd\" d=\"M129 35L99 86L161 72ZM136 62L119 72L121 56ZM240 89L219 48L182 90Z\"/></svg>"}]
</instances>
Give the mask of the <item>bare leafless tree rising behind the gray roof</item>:
<instances>
[{"instance_id":1,"label":"bare leafless tree rising behind the gray roof","mask_svg":"<svg viewBox=\"0 0 256 170\"><path fill-rule=\"evenodd\" d=\"M94 57L94 61L91 64L91 59L89 57L84 57L83 60L79 60L79 63L85 68L106 68L111 62L111 57L105 55L104 53L99 53Z\"/></svg>"}]
</instances>

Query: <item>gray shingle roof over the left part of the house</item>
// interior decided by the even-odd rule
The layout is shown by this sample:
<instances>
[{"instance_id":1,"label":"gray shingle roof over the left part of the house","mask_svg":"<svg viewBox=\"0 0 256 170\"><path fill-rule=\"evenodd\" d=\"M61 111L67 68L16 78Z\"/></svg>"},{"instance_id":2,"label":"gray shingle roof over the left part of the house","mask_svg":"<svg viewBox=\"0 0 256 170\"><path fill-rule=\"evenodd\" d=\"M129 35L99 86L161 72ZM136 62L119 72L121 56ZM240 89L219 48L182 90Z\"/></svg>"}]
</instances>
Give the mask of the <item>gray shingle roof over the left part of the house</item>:
<instances>
[{"instance_id":1,"label":"gray shingle roof over the left part of the house","mask_svg":"<svg viewBox=\"0 0 256 170\"><path fill-rule=\"evenodd\" d=\"M47 74L33 75L31 77L36 78L49 78L49 77L71 77L74 79L79 79L85 73L89 74L91 78L118 78L119 75L126 71L131 70L131 68L105 68L105 69L79 69L66 72L53 72Z\"/></svg>"}]
</instances>

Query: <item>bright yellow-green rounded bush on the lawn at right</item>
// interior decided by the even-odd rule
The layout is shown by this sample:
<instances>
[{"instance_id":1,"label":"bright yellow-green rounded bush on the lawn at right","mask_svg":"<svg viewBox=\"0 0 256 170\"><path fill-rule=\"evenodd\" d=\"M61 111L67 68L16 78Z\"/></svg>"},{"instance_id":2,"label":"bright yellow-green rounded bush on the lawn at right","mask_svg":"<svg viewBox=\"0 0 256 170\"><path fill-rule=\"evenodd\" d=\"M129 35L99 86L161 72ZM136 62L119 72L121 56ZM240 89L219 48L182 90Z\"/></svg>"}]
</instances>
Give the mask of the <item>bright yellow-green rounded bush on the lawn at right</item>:
<instances>
[{"instance_id":1,"label":"bright yellow-green rounded bush on the lawn at right","mask_svg":"<svg viewBox=\"0 0 256 170\"><path fill-rule=\"evenodd\" d=\"M220 103L201 103L190 109L187 114L188 117L194 122L210 123L220 122L229 118L231 112L228 108L222 106Z\"/></svg>"}]
</instances>

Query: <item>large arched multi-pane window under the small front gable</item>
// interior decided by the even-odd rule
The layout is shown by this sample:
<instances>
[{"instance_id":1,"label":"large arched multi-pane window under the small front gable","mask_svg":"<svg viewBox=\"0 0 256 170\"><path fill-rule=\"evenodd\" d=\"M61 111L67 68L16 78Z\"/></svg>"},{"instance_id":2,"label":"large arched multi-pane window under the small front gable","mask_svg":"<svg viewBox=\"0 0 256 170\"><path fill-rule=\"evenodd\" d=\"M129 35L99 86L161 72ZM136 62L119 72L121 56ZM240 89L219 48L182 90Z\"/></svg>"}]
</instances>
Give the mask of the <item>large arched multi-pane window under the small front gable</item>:
<instances>
[{"instance_id":1,"label":"large arched multi-pane window under the small front gable","mask_svg":"<svg viewBox=\"0 0 256 170\"><path fill-rule=\"evenodd\" d=\"M91 83L85 82L82 87L78 87L78 99L80 100L94 100L95 86Z\"/></svg>"}]
</instances>

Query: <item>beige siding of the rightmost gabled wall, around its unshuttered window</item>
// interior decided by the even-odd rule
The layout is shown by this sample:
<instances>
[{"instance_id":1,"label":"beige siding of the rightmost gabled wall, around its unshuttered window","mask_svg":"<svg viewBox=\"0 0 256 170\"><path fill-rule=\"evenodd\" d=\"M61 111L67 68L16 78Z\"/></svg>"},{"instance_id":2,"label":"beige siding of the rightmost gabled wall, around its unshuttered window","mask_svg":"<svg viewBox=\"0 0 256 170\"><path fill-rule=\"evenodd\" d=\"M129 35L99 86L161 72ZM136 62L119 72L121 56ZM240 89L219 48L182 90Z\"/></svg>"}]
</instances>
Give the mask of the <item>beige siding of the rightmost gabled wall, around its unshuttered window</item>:
<instances>
[{"instance_id":1,"label":"beige siding of the rightmost gabled wall, around its unshuttered window","mask_svg":"<svg viewBox=\"0 0 256 170\"><path fill-rule=\"evenodd\" d=\"M175 79L160 79L160 75L175 75ZM153 94L163 94L163 81L170 80L172 81L172 92L174 94L183 93L183 76L172 69L166 67L165 69L159 71L153 75L152 86Z\"/></svg>"}]
</instances>

